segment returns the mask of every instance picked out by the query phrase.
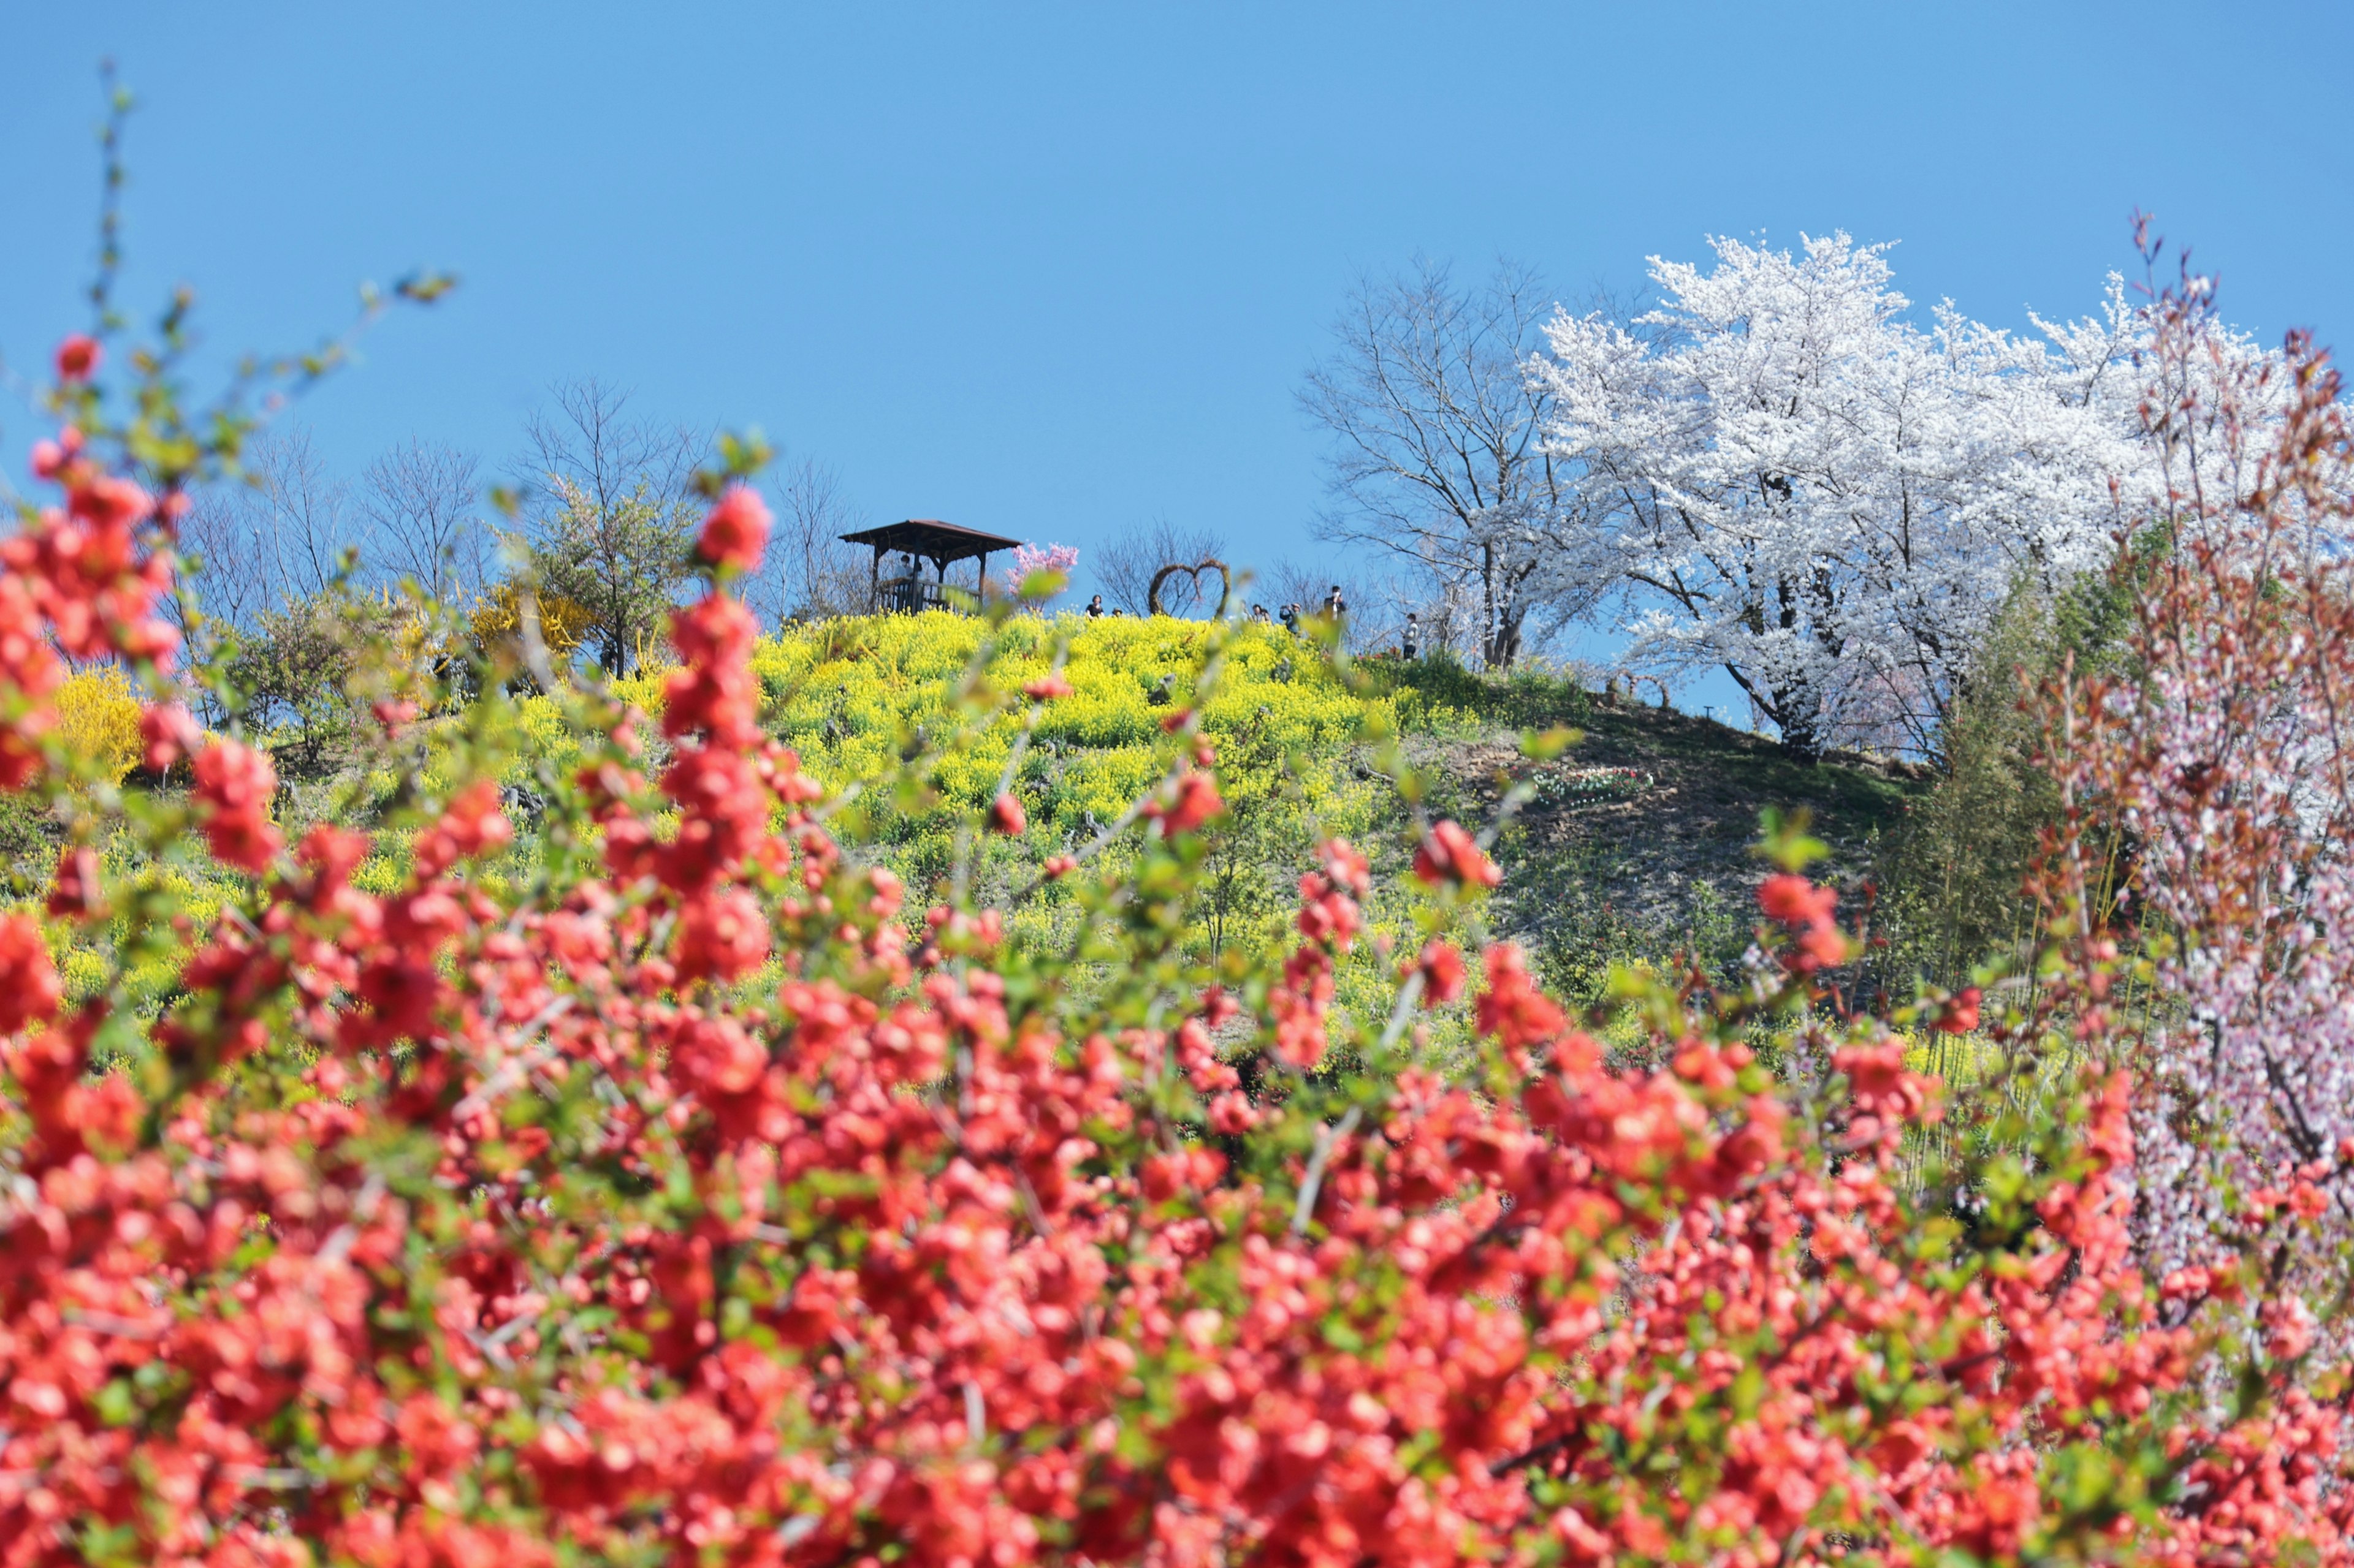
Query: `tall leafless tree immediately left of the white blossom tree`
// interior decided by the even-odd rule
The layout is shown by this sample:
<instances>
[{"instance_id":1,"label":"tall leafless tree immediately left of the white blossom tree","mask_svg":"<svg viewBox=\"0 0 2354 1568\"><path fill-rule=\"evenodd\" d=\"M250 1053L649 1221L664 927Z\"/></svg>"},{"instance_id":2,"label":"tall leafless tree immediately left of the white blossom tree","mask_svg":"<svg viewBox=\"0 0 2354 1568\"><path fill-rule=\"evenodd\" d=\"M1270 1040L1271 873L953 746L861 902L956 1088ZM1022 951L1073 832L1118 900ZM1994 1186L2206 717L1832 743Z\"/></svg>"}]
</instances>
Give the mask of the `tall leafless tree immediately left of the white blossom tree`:
<instances>
[{"instance_id":1,"label":"tall leafless tree immediately left of the white blossom tree","mask_svg":"<svg viewBox=\"0 0 2354 1568\"><path fill-rule=\"evenodd\" d=\"M1448 266L1363 280L1332 323L1335 351L1309 370L1302 410L1332 433L1332 506L1318 534L1398 560L1459 622L1476 598L1471 647L1509 669L1540 605L1532 586L1561 551L1589 549L1572 476L1542 447L1547 393L1523 363L1551 313L1542 278L1497 261L1459 287Z\"/></svg>"}]
</instances>

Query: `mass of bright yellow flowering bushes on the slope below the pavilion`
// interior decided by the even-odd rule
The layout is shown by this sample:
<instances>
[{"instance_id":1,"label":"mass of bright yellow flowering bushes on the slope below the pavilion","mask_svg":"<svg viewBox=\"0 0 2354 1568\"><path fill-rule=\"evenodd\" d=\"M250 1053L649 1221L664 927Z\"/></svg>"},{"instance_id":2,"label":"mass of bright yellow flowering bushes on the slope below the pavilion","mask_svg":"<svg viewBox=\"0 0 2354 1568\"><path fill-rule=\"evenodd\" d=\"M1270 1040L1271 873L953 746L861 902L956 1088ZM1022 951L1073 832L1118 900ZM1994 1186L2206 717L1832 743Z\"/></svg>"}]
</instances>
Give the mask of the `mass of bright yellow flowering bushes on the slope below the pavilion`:
<instances>
[{"instance_id":1,"label":"mass of bright yellow flowering bushes on the slope below the pavilion","mask_svg":"<svg viewBox=\"0 0 2354 1568\"><path fill-rule=\"evenodd\" d=\"M984 841L963 850L984 890L1010 892L1036 873L1040 857L1088 843L1161 777L1163 720L1193 704L1212 636L1219 631L1208 622L1170 617L1015 617L991 626L949 612L873 614L789 626L756 645L751 666L763 690L763 725L800 753L814 779L840 789L887 775L920 737L956 723L956 690L982 657L984 638L979 676L998 690L1043 678L1064 650L1071 695L1045 704L1010 779L1029 833L1019 845ZM607 690L657 716L666 673L647 662ZM1361 742L1464 718L1436 692L1394 678L1379 687L1354 690L1281 626L1224 631L1224 676L1201 730L1219 753L1229 803L1222 831L1236 864L1231 876L1212 878L1205 916L1212 946L1281 925L1292 881L1321 836L1372 829L1387 784L1356 765ZM970 744L946 749L927 793L859 800L885 859L925 897L953 876L956 824L1008 786L1017 737L1019 723L1003 718ZM525 697L516 704L516 758L506 777L565 777L579 749L560 704ZM1050 921L1055 904L1048 890L1022 918Z\"/></svg>"}]
</instances>

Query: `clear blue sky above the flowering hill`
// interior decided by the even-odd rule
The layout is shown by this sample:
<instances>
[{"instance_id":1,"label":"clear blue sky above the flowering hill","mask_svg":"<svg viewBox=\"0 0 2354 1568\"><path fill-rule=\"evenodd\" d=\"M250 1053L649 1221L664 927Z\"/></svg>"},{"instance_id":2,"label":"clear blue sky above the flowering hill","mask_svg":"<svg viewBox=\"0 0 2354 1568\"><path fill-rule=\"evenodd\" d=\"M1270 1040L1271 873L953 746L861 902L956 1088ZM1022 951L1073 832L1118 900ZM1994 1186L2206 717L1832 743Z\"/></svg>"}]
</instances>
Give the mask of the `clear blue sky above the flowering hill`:
<instances>
[{"instance_id":1,"label":"clear blue sky above the flowering hill","mask_svg":"<svg viewBox=\"0 0 2354 1568\"><path fill-rule=\"evenodd\" d=\"M2354 330L2342 2L9 9L0 356L80 323L113 54L129 304L186 280L214 346L292 346L363 278L464 275L301 410L346 469L410 433L499 461L596 372L878 520L1309 558L1292 391L1415 252L1577 299L1848 228L2020 323L2090 308L2142 205L2236 320ZM0 405L5 452L28 426Z\"/></svg>"}]
</instances>

